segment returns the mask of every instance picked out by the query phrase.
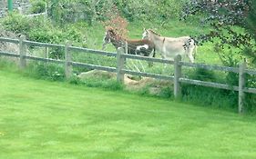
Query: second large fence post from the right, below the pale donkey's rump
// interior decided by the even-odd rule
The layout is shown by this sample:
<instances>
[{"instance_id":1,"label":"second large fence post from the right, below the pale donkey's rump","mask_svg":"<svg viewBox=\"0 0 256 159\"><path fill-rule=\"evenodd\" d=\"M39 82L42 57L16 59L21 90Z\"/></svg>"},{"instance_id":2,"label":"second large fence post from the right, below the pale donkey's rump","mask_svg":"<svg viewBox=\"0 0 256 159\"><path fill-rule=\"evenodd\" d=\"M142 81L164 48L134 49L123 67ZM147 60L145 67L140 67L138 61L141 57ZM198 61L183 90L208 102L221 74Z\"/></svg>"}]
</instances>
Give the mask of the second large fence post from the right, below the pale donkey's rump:
<instances>
[{"instance_id":1,"label":"second large fence post from the right, below the pale donkey's rump","mask_svg":"<svg viewBox=\"0 0 256 159\"><path fill-rule=\"evenodd\" d=\"M181 55L177 55L174 58L174 96L177 98L181 94L181 87L179 83L179 78L181 77L181 65L179 62L181 61Z\"/></svg>"}]
</instances>

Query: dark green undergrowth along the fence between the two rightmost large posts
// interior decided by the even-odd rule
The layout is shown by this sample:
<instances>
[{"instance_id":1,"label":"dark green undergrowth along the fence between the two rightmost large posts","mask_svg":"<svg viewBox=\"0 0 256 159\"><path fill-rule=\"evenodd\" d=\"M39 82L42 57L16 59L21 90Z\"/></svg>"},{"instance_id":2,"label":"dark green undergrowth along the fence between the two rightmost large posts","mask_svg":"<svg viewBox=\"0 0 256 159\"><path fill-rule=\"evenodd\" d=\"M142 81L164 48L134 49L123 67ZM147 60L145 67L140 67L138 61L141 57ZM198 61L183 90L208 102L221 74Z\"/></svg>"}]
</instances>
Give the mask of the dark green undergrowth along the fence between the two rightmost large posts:
<instances>
[{"instance_id":1,"label":"dark green undergrowth along the fence between the two rightmost large posts","mask_svg":"<svg viewBox=\"0 0 256 159\"><path fill-rule=\"evenodd\" d=\"M198 68L195 71L189 71L186 75L190 79L200 80L205 82L223 83L225 74L218 75L218 73L203 68ZM236 75L234 78L233 75ZM230 78L233 77L233 78ZM238 75L228 74L226 83L230 85L238 85ZM235 84L234 84L235 83ZM224 110L237 111L235 105L238 103L238 94L233 91L226 91L217 88L210 88L192 84L182 84L182 101L197 104L201 106L209 106L220 108Z\"/></svg>"}]
</instances>

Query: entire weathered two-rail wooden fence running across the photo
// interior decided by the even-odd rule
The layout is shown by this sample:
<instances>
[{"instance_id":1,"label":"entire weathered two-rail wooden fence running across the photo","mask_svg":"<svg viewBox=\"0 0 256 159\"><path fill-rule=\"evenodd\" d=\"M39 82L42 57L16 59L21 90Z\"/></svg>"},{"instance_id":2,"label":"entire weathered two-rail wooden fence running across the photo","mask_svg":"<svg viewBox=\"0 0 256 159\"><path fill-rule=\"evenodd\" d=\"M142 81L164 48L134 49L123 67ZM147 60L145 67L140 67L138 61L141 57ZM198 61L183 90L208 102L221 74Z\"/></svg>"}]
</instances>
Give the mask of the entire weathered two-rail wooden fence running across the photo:
<instances>
[{"instance_id":1,"label":"entire weathered two-rail wooden fence running across the photo","mask_svg":"<svg viewBox=\"0 0 256 159\"><path fill-rule=\"evenodd\" d=\"M164 59L159 59L159 58L144 57L144 56L139 56L139 55L128 55L128 54L125 54L125 49L123 49L123 48L118 48L118 53L110 53L110 52L105 52L105 51L71 46L68 43L66 45L54 45L54 44L32 42L32 41L27 41L25 39L25 36L21 36L19 39L10 39L10 38L5 38L5 37L0 37L0 42L14 43L14 44L19 45L19 54L0 52L0 55L18 57L19 61L20 61L20 68L22 68L22 69L26 67L26 60L29 59L29 60L36 60L36 61L42 61L42 62L63 64L63 65L65 65L67 78L71 77L73 66L78 66L78 67L87 67L90 69L97 69L97 70L103 70L103 71L108 71L108 72L115 72L115 73L117 73L118 82L121 82L121 83L124 82L125 74L140 75L140 76L152 77L152 78L161 79L161 80L170 80L174 84L173 91L174 91L175 97L178 97L181 94L181 84L182 83L238 91L239 92L239 101L238 101L238 105L239 105L238 112L239 113L242 113L243 109L244 109L243 105L244 105L244 100L245 100L245 93L256 94L256 88L245 87L246 75L256 75L256 70L247 69L246 63L241 63L241 65L239 67L191 64L191 63L181 62L180 55L176 56L174 61L171 61L171 60L164 60ZM64 48L65 49L65 60L51 59L51 58L48 58L47 55L46 55L46 58L33 56L33 55L26 55L26 46L27 45L39 46L39 47L45 47L45 48L48 48L48 47ZM74 62L74 61L72 61L72 52L75 52L75 51L85 52L85 53L89 53L89 54L108 55L108 56L116 57L117 58L117 67L108 67L108 66L102 66L102 65L90 65L90 64ZM148 62L174 65L174 75L156 75L156 74L141 73L141 72L127 70L124 67L126 59L137 59L137 60L144 60L144 61L148 61ZM183 77L181 77L182 67L203 68L206 70L217 70L217 71L237 73L239 75L239 85L230 86L228 84L218 84L218 83L205 82L205 81L200 81L200 80L193 80L193 79L189 79L189 78L183 78Z\"/></svg>"}]
</instances>

